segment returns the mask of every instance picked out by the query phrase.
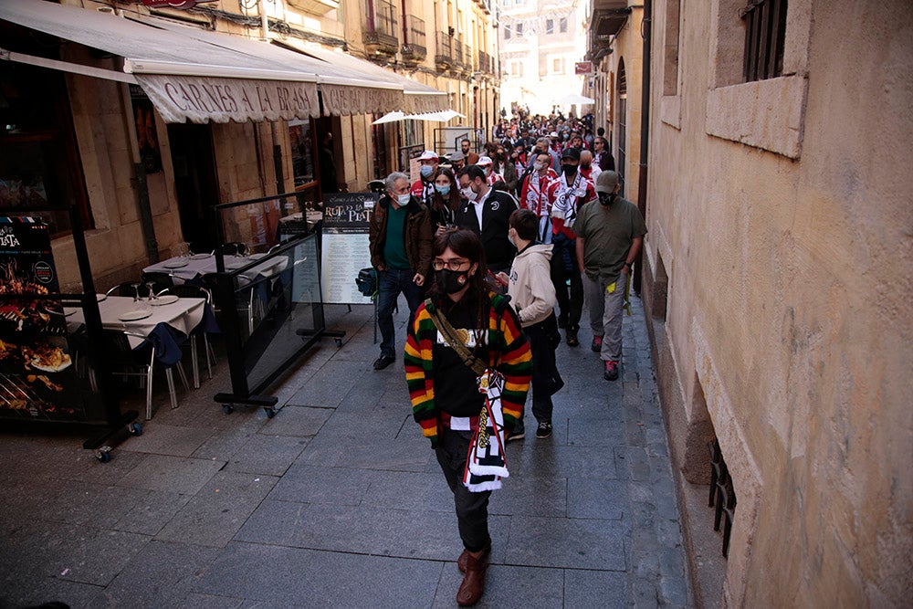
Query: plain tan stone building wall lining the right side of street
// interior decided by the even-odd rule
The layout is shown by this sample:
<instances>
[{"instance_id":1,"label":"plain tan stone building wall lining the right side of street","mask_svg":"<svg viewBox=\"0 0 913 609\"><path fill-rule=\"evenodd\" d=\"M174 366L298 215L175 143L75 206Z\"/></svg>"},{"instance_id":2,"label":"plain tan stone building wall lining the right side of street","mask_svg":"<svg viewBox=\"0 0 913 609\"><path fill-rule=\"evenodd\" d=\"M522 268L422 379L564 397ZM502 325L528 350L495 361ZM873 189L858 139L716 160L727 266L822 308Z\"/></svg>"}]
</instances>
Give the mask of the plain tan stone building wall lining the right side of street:
<instances>
[{"instance_id":1,"label":"plain tan stone building wall lining the right side of street","mask_svg":"<svg viewBox=\"0 0 913 609\"><path fill-rule=\"evenodd\" d=\"M731 517L700 595L907 605L913 7L652 8L643 297L687 511L716 442Z\"/></svg>"}]
</instances>

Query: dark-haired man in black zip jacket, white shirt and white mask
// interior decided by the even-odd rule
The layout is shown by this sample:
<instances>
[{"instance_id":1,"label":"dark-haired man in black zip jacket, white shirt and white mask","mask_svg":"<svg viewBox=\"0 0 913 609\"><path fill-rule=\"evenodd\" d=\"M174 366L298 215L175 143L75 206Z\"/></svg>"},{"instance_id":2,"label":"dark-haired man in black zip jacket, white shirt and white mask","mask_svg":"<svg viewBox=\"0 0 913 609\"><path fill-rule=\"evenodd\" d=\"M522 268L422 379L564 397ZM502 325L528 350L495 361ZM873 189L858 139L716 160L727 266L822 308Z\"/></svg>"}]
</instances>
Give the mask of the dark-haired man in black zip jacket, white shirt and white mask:
<instances>
[{"instance_id":1,"label":"dark-haired man in black zip jacket, white shirt and white mask","mask_svg":"<svg viewBox=\"0 0 913 609\"><path fill-rule=\"evenodd\" d=\"M517 202L509 194L488 186L485 172L477 165L460 170L456 178L460 194L467 199L456 213L456 222L482 239L485 258L492 273L508 272L517 248L508 238L509 218Z\"/></svg>"}]
</instances>

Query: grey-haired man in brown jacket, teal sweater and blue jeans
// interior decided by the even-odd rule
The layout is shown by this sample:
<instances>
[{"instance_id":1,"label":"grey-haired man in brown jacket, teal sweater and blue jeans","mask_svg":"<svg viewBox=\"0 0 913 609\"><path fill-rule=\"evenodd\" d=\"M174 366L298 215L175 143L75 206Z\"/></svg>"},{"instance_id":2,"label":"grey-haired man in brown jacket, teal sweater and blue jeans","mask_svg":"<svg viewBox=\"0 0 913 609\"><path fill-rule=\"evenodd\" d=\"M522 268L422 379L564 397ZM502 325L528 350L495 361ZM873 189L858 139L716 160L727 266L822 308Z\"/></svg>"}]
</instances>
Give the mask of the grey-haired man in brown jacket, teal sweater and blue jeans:
<instances>
[{"instance_id":1,"label":"grey-haired man in brown jacket, teal sweater and blue jeans","mask_svg":"<svg viewBox=\"0 0 913 609\"><path fill-rule=\"evenodd\" d=\"M371 265L379 273L377 325L381 329L381 356L374 370L396 361L394 305L400 292L409 303L410 320L425 298L425 278L431 269L431 216L409 192L409 177L394 172L384 180L386 194L374 208L368 239Z\"/></svg>"}]
</instances>

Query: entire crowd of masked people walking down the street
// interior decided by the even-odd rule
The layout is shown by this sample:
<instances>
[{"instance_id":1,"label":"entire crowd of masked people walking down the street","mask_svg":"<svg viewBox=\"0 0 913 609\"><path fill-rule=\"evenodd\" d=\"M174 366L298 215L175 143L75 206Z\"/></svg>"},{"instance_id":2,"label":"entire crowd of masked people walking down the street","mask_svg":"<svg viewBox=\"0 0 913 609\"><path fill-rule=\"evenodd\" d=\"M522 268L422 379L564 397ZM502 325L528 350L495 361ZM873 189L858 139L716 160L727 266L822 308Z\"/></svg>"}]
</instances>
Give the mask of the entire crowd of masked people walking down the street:
<instances>
[{"instance_id":1,"label":"entire crowd of masked people walking down the street","mask_svg":"<svg viewBox=\"0 0 913 609\"><path fill-rule=\"evenodd\" d=\"M551 436L551 396L564 384L560 329L569 347L580 344L584 298L591 349L603 377L618 378L627 278L646 228L592 127L589 117L520 112L481 146L426 150L412 184L405 173L387 176L371 219L382 337L373 368L397 361L402 293L413 413L454 494L465 547L460 605L485 590L488 497L508 475L505 444L526 436L530 384L536 437Z\"/></svg>"}]
</instances>

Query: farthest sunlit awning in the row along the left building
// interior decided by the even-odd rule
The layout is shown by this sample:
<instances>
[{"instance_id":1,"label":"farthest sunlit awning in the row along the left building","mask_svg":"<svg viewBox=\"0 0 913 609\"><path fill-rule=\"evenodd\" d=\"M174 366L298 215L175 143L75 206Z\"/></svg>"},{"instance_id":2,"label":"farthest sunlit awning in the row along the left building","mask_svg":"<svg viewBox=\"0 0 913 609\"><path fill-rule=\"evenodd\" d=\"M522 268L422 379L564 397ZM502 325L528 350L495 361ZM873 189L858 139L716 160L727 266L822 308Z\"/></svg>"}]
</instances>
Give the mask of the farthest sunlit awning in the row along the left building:
<instances>
[{"instance_id":1,"label":"farthest sunlit awning in the row along the left building","mask_svg":"<svg viewBox=\"0 0 913 609\"><path fill-rule=\"evenodd\" d=\"M320 47L319 45L298 42L297 40L285 40L281 44L310 55L311 57L331 63L334 66L359 72L363 74L366 79L385 79L397 83L402 87L405 97L403 105L396 110L415 114L418 112L446 110L450 105L449 96L444 91L429 87L416 80L406 78L402 74L397 74L392 70L374 65L366 59L352 57L341 49L332 51ZM326 101L326 99L324 99L324 101Z\"/></svg>"}]
</instances>

